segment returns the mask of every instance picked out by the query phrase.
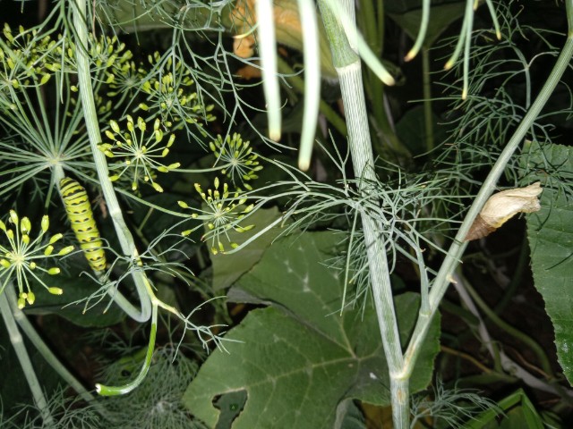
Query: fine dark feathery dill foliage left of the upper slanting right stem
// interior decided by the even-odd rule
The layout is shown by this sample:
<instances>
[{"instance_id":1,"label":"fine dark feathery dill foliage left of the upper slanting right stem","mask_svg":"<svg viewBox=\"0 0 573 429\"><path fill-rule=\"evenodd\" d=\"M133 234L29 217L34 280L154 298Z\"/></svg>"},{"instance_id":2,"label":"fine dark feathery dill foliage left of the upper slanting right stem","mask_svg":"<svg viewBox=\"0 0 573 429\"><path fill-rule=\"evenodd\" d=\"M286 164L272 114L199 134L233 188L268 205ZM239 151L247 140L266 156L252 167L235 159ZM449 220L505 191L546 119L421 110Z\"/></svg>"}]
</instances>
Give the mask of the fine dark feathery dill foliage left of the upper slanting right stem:
<instances>
[{"instance_id":1,"label":"fine dark feathery dill foliage left of the upper slanting right stem","mask_svg":"<svg viewBox=\"0 0 573 429\"><path fill-rule=\"evenodd\" d=\"M499 4L497 15L501 24L500 41L492 29L478 29L473 33L470 55L469 91L467 99L458 97L462 80L462 62L444 73L439 84L445 96L438 99L449 102L449 139L436 149L438 155L433 168L440 177L457 189L460 196L467 195L467 185L479 185L482 174L498 159L512 132L522 121L535 95L530 71L546 55L556 56L558 49L548 37L555 32L521 25L516 4ZM455 38L446 40L445 46L453 46ZM528 55L524 47L539 44L543 55ZM443 47L443 46L442 46ZM446 83L451 78L450 83ZM524 95L525 93L525 95ZM526 139L551 141L552 125L544 118L556 114L540 115L528 131ZM563 114L561 112L561 114ZM518 156L509 162L505 174L510 185L517 186L520 172ZM444 207L445 208L445 207Z\"/></svg>"}]
</instances>

